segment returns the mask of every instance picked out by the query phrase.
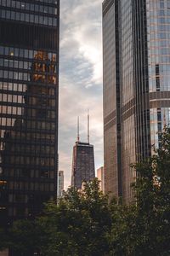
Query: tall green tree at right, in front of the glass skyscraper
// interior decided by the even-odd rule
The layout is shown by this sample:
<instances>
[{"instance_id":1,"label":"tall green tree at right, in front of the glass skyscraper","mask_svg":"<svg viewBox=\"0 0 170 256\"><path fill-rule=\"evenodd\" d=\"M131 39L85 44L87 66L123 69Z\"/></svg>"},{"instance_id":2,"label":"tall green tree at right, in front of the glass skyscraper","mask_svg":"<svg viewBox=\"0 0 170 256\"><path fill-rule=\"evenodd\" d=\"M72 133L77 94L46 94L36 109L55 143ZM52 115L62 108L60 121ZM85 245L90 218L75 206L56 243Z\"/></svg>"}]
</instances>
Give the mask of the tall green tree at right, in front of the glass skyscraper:
<instances>
[{"instance_id":1,"label":"tall green tree at right, in front of the glass skyscraper","mask_svg":"<svg viewBox=\"0 0 170 256\"><path fill-rule=\"evenodd\" d=\"M169 255L170 128L162 132L156 154L132 167L134 201L112 211L111 255Z\"/></svg>"}]
</instances>

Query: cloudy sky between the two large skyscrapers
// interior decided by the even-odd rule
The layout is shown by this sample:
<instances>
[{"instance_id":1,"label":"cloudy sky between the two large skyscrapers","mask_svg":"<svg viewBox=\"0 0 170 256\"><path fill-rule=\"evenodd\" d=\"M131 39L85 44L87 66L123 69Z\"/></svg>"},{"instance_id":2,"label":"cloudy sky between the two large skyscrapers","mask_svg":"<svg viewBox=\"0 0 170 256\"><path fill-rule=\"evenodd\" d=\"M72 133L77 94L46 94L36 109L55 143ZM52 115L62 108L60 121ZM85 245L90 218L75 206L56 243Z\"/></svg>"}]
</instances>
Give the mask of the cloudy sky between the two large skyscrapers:
<instances>
[{"instance_id":1,"label":"cloudy sky between the two large skyscrapers","mask_svg":"<svg viewBox=\"0 0 170 256\"><path fill-rule=\"evenodd\" d=\"M102 0L60 1L59 170L71 185L72 148L77 140L94 144L95 169L103 166Z\"/></svg>"}]
</instances>

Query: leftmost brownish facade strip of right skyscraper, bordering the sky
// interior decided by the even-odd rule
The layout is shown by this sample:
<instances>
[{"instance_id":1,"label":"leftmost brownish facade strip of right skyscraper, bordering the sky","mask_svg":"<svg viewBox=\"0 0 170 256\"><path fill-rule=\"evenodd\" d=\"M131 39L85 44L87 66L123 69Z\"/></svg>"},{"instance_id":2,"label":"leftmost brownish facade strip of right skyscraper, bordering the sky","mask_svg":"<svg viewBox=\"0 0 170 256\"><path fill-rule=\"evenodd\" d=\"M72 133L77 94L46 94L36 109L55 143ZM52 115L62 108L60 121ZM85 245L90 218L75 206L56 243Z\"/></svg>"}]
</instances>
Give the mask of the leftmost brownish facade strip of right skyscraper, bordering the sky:
<instances>
[{"instance_id":1,"label":"leftmost brownish facade strip of right skyscraper, bordering the sky","mask_svg":"<svg viewBox=\"0 0 170 256\"><path fill-rule=\"evenodd\" d=\"M114 1L103 3L103 57L104 57L104 148L105 193L118 195L117 159L117 93L116 87L116 20L117 6Z\"/></svg>"}]
</instances>

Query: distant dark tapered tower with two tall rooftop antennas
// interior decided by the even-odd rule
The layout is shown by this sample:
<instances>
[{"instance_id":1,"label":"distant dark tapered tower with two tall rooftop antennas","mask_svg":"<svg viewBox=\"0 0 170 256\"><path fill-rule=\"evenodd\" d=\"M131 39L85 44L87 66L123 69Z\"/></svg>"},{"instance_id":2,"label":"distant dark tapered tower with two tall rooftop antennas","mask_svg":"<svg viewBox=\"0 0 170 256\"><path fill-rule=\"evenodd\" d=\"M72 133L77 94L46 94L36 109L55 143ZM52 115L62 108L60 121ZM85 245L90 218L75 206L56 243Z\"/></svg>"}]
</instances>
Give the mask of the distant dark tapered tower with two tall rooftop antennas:
<instances>
[{"instance_id":1,"label":"distant dark tapered tower with two tall rooftop antennas","mask_svg":"<svg viewBox=\"0 0 170 256\"><path fill-rule=\"evenodd\" d=\"M79 119L77 125L77 142L73 147L71 186L82 189L82 183L93 180L94 145L89 143L89 115L88 115L88 143L81 143L79 138Z\"/></svg>"}]
</instances>

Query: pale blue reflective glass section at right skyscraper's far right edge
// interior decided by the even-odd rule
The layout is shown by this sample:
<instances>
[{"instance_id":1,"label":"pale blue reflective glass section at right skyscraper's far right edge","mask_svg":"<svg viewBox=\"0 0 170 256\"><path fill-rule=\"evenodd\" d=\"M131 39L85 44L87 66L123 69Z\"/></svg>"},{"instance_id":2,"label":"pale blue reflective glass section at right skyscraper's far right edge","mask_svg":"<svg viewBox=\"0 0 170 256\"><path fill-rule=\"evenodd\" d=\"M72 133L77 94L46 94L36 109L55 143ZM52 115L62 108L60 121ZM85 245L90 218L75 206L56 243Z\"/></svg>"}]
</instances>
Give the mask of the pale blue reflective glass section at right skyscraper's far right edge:
<instances>
[{"instance_id":1,"label":"pale blue reflective glass section at right skyscraper's far right edge","mask_svg":"<svg viewBox=\"0 0 170 256\"><path fill-rule=\"evenodd\" d=\"M170 1L146 1L150 86L150 139L159 147L159 132L170 124ZM156 101L157 99L157 101ZM152 149L153 151L153 149Z\"/></svg>"}]
</instances>

